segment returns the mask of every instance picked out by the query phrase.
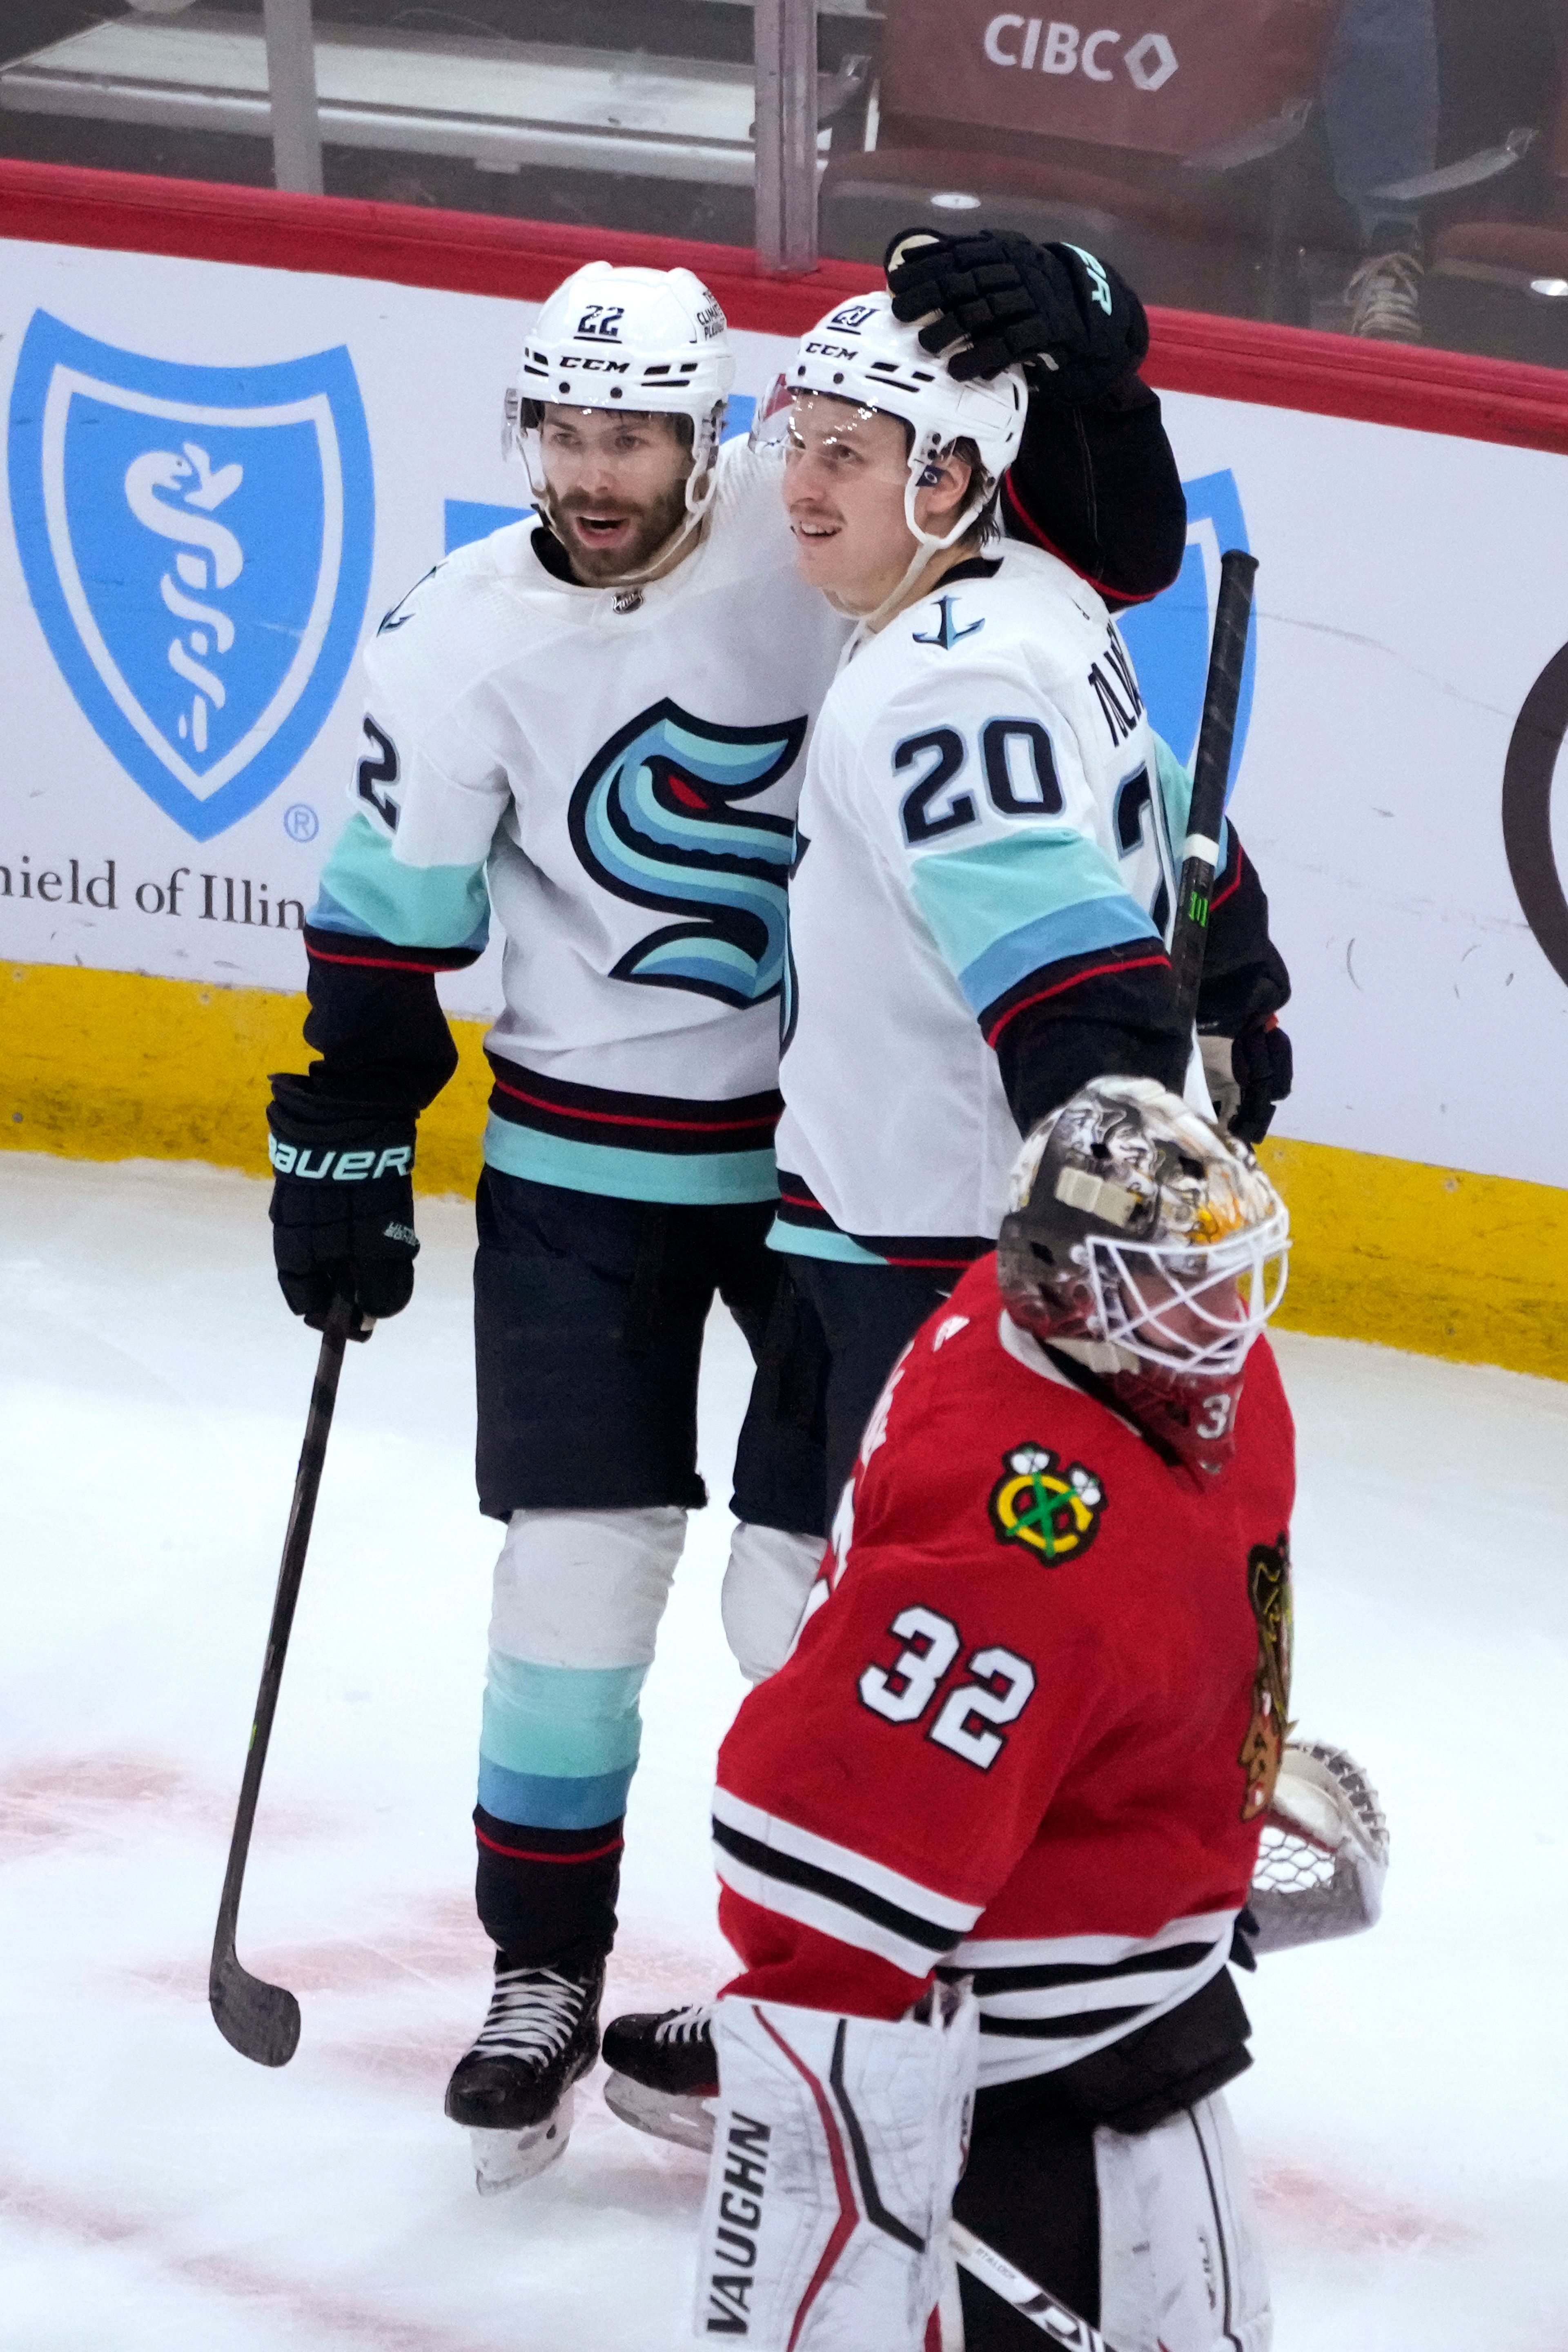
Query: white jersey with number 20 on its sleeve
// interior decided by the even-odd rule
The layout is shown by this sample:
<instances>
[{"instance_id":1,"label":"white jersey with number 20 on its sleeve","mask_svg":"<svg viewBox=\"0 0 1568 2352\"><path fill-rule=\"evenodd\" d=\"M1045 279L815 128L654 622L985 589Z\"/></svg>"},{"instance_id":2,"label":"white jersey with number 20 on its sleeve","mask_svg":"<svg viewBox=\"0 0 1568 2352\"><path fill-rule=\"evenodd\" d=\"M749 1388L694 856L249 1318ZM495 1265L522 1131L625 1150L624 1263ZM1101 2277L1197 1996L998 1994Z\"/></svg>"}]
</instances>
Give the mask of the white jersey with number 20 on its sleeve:
<instances>
[{"instance_id":1,"label":"white jersey with number 20 on its sleeve","mask_svg":"<svg viewBox=\"0 0 1568 2352\"><path fill-rule=\"evenodd\" d=\"M856 649L797 818L776 1249L961 1263L994 1240L1018 1127L983 1016L1098 950L1164 962L1187 795L1053 555L1009 541Z\"/></svg>"}]
</instances>

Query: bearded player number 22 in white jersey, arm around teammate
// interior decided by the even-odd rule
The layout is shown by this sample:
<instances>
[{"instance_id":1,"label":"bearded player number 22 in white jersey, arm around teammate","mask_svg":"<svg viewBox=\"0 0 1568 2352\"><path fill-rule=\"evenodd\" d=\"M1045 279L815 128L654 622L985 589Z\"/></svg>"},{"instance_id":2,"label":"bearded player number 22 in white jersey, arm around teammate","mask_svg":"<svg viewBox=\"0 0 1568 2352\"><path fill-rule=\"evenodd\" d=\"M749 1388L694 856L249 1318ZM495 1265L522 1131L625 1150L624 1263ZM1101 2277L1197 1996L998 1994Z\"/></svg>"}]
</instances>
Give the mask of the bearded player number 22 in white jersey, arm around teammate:
<instances>
[{"instance_id":1,"label":"bearded player number 22 in white jersey, arm around teammate","mask_svg":"<svg viewBox=\"0 0 1568 2352\"><path fill-rule=\"evenodd\" d=\"M976 336L1004 315L1001 350L980 336L971 365L1044 353L1027 419L1018 400L1011 527L1154 593L1182 496L1135 376L1143 310L1067 247L1020 263L994 245L936 240L919 306L938 339L954 306ZM475 1828L496 1992L447 2093L487 2187L559 2154L597 2051L637 1696L705 1501L703 1319L719 1291L757 1345L778 1287L785 877L851 623L797 576L773 470L722 447L731 381L724 315L689 270L592 263L543 306L510 402L538 520L437 564L367 652L353 816L306 934L320 1058L270 1110L289 1305L320 1322L348 1294L395 1315L416 1115L456 1065L435 978L480 955L494 910L477 1468L508 1531ZM811 1432L759 1428L729 1595L785 1637L820 1496Z\"/></svg>"}]
</instances>

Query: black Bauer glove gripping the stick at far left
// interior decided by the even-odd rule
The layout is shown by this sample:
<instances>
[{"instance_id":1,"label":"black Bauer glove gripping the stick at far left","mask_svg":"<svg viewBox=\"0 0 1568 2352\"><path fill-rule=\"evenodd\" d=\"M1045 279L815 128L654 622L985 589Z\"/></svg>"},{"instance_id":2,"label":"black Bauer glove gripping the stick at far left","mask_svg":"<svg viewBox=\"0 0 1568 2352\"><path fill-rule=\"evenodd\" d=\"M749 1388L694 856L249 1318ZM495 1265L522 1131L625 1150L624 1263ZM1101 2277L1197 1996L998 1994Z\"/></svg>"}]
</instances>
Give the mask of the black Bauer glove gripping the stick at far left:
<instances>
[{"instance_id":1,"label":"black Bauer glove gripping the stick at far left","mask_svg":"<svg viewBox=\"0 0 1568 2352\"><path fill-rule=\"evenodd\" d=\"M334 1103L308 1077L275 1077L273 1258L282 1296L313 1331L341 1291L371 1319L414 1296L414 1120ZM353 1338L369 1338L369 1327Z\"/></svg>"}]
</instances>

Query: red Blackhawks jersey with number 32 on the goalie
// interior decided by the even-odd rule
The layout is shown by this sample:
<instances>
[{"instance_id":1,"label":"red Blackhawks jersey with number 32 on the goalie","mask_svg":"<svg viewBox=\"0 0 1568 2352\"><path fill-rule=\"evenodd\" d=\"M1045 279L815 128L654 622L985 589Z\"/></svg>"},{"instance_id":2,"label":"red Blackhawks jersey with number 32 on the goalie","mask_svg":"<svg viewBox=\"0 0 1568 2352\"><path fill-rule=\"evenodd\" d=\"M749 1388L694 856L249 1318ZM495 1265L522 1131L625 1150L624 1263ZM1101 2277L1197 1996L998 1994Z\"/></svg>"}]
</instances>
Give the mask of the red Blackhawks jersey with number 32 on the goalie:
<instances>
[{"instance_id":1,"label":"red Blackhawks jersey with number 32 on the goalie","mask_svg":"<svg viewBox=\"0 0 1568 2352\"><path fill-rule=\"evenodd\" d=\"M1208 1477L973 1265L896 1367L797 1649L719 1752L729 1990L893 2018L966 1973L980 2079L1013 2082L1215 1976L1286 1729L1293 1458L1267 1341Z\"/></svg>"}]
</instances>

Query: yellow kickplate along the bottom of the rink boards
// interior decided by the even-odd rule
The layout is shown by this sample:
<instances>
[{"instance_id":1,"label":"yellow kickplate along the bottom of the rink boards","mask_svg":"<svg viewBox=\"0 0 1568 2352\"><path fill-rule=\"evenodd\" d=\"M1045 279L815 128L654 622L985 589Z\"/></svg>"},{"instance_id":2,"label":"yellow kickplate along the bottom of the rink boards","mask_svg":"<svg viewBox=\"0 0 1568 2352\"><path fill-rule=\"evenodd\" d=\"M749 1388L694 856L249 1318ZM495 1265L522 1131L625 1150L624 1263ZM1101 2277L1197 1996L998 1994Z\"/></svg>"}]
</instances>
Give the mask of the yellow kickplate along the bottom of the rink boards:
<instances>
[{"instance_id":1,"label":"yellow kickplate along the bottom of the rink boards","mask_svg":"<svg viewBox=\"0 0 1568 2352\"><path fill-rule=\"evenodd\" d=\"M0 967L0 1143L266 1176L266 1075L303 1070L303 995L73 964ZM470 1192L484 1023L418 1122L421 1192ZM1291 1204L1281 1324L1568 1378L1568 1190L1328 1143L1260 1152Z\"/></svg>"}]
</instances>

